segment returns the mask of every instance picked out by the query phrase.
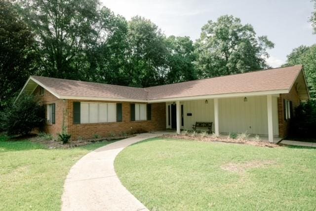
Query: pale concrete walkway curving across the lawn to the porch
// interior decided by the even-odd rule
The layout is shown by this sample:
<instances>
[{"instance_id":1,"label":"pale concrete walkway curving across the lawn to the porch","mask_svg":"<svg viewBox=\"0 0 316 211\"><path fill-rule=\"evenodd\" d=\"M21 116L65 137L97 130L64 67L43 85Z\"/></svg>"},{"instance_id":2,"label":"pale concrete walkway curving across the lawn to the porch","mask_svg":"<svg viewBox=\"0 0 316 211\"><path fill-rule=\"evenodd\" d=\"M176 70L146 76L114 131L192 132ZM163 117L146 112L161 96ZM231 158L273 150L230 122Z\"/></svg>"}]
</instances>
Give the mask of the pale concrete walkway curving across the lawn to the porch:
<instances>
[{"instance_id":1,"label":"pale concrete walkway curving across the lawn to the porch","mask_svg":"<svg viewBox=\"0 0 316 211\"><path fill-rule=\"evenodd\" d=\"M121 184L114 170L114 159L126 146L160 135L162 133L139 134L82 157L65 180L62 211L147 211Z\"/></svg>"}]
</instances>

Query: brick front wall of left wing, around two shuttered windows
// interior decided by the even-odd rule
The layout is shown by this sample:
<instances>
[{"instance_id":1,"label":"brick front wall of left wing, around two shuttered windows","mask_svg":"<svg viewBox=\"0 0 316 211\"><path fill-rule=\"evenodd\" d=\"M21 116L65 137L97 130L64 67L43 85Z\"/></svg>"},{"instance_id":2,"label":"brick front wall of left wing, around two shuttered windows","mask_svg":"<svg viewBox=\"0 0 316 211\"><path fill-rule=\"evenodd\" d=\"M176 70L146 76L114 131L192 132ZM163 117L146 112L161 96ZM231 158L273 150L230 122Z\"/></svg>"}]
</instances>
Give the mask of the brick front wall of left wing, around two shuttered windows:
<instances>
[{"instance_id":1,"label":"brick front wall of left wing, around two shuttered windows","mask_svg":"<svg viewBox=\"0 0 316 211\"><path fill-rule=\"evenodd\" d=\"M121 103L122 104L122 122L112 123L89 123L73 124L73 102L67 101L67 119L68 133L72 135L72 140L82 138L93 138L97 134L102 137L109 136L111 133L119 134L131 131L158 131L166 128L165 103L152 104L152 120L148 121L130 121L130 103L129 102L106 102L106 101L82 101L98 103Z\"/></svg>"}]
</instances>

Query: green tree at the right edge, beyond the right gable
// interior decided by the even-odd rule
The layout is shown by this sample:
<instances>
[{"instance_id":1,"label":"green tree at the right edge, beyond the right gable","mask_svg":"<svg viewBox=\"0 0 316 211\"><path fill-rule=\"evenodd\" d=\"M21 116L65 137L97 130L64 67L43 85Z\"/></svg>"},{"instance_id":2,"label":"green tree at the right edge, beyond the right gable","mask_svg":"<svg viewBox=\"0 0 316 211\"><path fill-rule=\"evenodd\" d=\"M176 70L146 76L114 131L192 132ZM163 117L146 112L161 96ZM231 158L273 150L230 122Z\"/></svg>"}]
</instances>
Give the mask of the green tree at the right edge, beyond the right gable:
<instances>
[{"instance_id":1,"label":"green tree at the right edge, beyond the right gable","mask_svg":"<svg viewBox=\"0 0 316 211\"><path fill-rule=\"evenodd\" d=\"M306 80L312 98L316 98L316 44L312 46L299 46L287 55L284 66L304 65Z\"/></svg>"}]
</instances>

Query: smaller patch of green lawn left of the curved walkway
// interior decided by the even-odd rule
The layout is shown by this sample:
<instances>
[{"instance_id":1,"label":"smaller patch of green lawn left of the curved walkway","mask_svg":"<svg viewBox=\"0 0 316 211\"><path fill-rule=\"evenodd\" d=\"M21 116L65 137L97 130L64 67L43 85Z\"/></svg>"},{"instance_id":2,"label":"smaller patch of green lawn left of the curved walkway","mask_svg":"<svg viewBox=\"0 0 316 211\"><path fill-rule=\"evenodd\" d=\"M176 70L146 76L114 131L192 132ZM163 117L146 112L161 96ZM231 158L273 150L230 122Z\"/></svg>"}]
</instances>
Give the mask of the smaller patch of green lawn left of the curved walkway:
<instances>
[{"instance_id":1,"label":"smaller patch of green lawn left of the curved walkway","mask_svg":"<svg viewBox=\"0 0 316 211\"><path fill-rule=\"evenodd\" d=\"M64 180L83 155L108 144L47 149L0 136L0 210L60 210Z\"/></svg>"}]
</instances>

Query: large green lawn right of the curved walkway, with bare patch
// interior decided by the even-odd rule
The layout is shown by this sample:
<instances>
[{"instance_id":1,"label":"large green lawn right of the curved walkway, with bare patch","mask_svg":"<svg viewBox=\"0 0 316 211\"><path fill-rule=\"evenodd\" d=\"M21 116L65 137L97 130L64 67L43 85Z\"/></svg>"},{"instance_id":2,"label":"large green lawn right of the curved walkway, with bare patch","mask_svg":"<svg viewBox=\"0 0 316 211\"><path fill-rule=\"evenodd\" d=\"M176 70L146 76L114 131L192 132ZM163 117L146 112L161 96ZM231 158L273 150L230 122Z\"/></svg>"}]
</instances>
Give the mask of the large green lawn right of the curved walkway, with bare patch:
<instances>
[{"instance_id":1,"label":"large green lawn right of the curved walkway, with bare patch","mask_svg":"<svg viewBox=\"0 0 316 211\"><path fill-rule=\"evenodd\" d=\"M228 164L246 166L232 172ZM119 153L123 185L150 210L315 210L316 149L152 139Z\"/></svg>"}]
</instances>

